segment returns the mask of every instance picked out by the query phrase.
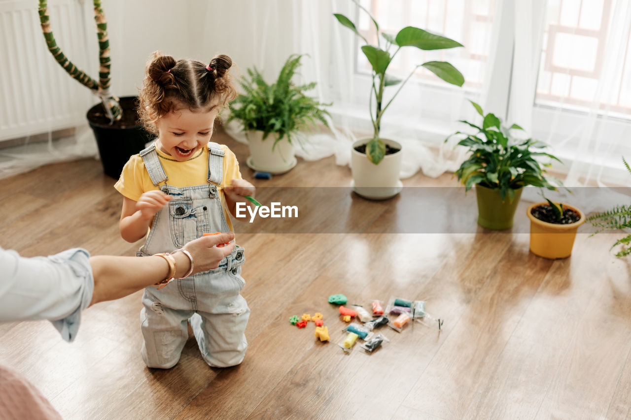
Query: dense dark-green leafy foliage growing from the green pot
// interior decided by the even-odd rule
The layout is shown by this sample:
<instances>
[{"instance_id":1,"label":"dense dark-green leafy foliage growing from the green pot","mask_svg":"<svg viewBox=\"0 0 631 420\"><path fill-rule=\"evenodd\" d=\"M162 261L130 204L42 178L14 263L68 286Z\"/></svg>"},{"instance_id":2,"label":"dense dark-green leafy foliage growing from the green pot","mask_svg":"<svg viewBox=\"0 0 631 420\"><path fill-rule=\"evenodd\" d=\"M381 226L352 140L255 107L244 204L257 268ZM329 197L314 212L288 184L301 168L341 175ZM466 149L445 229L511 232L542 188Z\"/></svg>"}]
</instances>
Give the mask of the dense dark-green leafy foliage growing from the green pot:
<instances>
[{"instance_id":1,"label":"dense dark-green leafy foliage growing from the green pot","mask_svg":"<svg viewBox=\"0 0 631 420\"><path fill-rule=\"evenodd\" d=\"M523 130L522 127L517 124L504 127L502 121L494 114L484 114L480 105L473 101L469 102L483 118L482 125L461 120L478 132L468 134L457 131L451 135L466 135L458 145L468 148L471 153L456 171L458 180L465 185L466 190L471 189L473 185L481 185L497 190L502 201L506 197L512 201L515 190L526 185L556 190L557 185L561 183L546 176L546 167L550 166L550 163L540 163L537 160L538 157L545 156L561 162L556 156L545 151L546 144L532 138L517 139L511 135L511 131ZM445 142L451 136L447 137Z\"/></svg>"}]
</instances>

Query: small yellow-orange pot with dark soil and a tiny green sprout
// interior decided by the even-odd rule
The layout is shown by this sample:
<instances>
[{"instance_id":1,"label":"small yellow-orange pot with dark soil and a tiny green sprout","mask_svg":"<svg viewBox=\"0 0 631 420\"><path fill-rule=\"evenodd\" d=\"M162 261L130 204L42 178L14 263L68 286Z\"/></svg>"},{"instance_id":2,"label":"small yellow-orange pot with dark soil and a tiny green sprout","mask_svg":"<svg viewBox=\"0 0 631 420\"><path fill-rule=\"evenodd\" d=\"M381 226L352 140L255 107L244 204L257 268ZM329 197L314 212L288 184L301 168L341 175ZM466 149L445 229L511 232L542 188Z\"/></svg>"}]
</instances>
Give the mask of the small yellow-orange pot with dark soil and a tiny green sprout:
<instances>
[{"instance_id":1,"label":"small yellow-orange pot with dark soil and a tiny green sprout","mask_svg":"<svg viewBox=\"0 0 631 420\"><path fill-rule=\"evenodd\" d=\"M546 198L546 201L529 206L526 214L530 219L530 250L533 254L551 260L572 254L576 232L585 222L582 211Z\"/></svg>"}]
</instances>

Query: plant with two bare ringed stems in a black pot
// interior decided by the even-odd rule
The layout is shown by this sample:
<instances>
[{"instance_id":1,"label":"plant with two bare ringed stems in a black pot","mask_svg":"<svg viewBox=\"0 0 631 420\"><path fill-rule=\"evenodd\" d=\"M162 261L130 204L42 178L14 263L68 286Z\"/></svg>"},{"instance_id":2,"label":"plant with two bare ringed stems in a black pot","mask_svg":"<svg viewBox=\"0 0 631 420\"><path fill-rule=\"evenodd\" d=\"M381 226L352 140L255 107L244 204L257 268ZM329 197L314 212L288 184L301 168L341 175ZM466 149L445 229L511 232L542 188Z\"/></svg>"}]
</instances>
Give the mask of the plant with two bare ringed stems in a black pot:
<instances>
[{"instance_id":1,"label":"plant with two bare ringed stems in a black pot","mask_svg":"<svg viewBox=\"0 0 631 420\"><path fill-rule=\"evenodd\" d=\"M97 23L99 77L93 79L75 66L57 46L50 26L47 0L38 0L38 13L42 32L50 53L59 65L81 85L98 96L100 103L88 110L86 117L97 140L103 172L118 179L129 156L138 153L150 139L138 122L136 97L117 98L110 93L110 47L107 20L100 0L93 0L94 19Z\"/></svg>"}]
</instances>

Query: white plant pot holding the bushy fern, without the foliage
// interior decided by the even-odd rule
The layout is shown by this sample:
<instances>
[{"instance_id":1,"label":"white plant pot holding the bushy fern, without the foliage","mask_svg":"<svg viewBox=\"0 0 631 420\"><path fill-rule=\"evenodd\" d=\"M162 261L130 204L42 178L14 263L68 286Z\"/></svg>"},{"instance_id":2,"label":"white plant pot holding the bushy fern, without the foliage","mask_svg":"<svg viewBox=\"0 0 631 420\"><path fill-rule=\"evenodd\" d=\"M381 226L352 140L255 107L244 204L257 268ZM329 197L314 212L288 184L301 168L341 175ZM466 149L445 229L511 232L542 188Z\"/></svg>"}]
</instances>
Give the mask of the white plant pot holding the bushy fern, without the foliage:
<instances>
[{"instance_id":1,"label":"white plant pot holding the bushy fern, without the foliage","mask_svg":"<svg viewBox=\"0 0 631 420\"><path fill-rule=\"evenodd\" d=\"M290 144L286 137L276 143L276 146L274 146L274 141L278 136L274 133L263 140L262 131L251 130L245 133L245 137L250 146L250 156L245 163L252 170L278 175L296 166L298 161L293 153L293 144Z\"/></svg>"}]
</instances>

